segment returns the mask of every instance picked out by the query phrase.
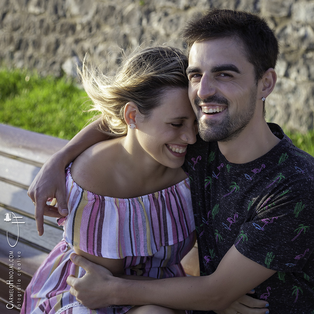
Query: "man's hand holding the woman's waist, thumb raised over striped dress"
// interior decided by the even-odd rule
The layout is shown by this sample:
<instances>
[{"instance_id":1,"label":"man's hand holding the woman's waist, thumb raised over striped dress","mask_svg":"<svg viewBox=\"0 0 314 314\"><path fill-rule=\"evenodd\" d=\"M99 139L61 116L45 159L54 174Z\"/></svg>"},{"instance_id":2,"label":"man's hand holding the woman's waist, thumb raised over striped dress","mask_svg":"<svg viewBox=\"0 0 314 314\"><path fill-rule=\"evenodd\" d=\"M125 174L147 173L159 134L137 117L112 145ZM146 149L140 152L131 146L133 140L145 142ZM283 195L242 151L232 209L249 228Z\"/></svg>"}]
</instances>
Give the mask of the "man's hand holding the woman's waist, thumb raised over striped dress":
<instances>
[{"instance_id":1,"label":"man's hand holding the woman's waist, thumb raised over striped dress","mask_svg":"<svg viewBox=\"0 0 314 314\"><path fill-rule=\"evenodd\" d=\"M75 253L71 254L70 258L75 265L86 271L82 278L76 278L73 275L68 277L67 284L71 286L70 293L76 297L78 302L89 309L110 306L111 304L106 302L110 298L107 293L110 291L110 280L118 278L113 277L107 268L92 263Z\"/></svg>"}]
</instances>

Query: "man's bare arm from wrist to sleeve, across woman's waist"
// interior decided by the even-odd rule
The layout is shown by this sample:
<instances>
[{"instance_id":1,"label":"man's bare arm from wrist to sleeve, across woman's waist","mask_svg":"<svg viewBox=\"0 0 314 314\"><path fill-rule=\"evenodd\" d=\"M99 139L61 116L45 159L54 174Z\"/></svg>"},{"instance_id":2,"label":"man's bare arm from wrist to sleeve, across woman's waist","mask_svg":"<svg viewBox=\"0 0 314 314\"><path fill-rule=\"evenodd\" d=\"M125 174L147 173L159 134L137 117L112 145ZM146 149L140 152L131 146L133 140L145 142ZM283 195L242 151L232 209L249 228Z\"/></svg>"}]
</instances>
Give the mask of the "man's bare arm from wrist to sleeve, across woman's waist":
<instances>
[{"instance_id":1,"label":"man's bare arm from wrist to sleeve, across woman's waist","mask_svg":"<svg viewBox=\"0 0 314 314\"><path fill-rule=\"evenodd\" d=\"M111 282L112 304L155 304L181 310L223 310L275 271L241 255L233 246L209 276Z\"/></svg>"}]
</instances>

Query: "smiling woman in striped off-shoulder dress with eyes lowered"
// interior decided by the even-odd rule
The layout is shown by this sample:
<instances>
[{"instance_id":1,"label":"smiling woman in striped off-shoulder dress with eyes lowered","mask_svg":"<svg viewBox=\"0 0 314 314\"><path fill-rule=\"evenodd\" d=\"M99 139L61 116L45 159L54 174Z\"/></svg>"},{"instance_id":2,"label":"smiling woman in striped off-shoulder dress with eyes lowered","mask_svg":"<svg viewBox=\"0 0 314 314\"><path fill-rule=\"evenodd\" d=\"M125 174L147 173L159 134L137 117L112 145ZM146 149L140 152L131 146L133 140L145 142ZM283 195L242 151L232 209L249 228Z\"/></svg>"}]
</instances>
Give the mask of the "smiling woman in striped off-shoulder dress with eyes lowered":
<instances>
[{"instance_id":1,"label":"smiling woman in striped off-shoulder dress with eyes lowered","mask_svg":"<svg viewBox=\"0 0 314 314\"><path fill-rule=\"evenodd\" d=\"M73 298L66 282L69 275L84 275L70 260L73 252L116 276L185 276L180 261L194 245L195 225L189 179L181 165L188 144L196 141L186 66L186 57L166 46L126 58L114 78L84 64L83 86L101 112L104 133L113 138L96 143L68 165L69 213L58 221L64 239L35 273L21 313L48 307L50 314L90 312ZM126 311L142 310L128 305L97 309Z\"/></svg>"}]
</instances>

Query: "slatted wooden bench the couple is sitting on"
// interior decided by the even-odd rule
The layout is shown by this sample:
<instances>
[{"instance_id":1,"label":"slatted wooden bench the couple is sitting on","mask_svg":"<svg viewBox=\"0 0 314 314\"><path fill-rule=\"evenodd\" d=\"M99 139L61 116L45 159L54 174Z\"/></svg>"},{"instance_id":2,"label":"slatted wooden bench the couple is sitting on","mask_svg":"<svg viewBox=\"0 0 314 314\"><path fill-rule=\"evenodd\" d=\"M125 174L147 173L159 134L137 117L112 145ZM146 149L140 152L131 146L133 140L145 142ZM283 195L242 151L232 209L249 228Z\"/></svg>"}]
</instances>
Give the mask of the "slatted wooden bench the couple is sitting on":
<instances>
[{"instance_id":1,"label":"slatted wooden bench the couple is sitting on","mask_svg":"<svg viewBox=\"0 0 314 314\"><path fill-rule=\"evenodd\" d=\"M0 124L0 313L19 313L32 275L62 239L62 228L50 217L38 236L27 190L43 163L66 143ZM187 274L199 275L197 244L182 264Z\"/></svg>"}]
</instances>

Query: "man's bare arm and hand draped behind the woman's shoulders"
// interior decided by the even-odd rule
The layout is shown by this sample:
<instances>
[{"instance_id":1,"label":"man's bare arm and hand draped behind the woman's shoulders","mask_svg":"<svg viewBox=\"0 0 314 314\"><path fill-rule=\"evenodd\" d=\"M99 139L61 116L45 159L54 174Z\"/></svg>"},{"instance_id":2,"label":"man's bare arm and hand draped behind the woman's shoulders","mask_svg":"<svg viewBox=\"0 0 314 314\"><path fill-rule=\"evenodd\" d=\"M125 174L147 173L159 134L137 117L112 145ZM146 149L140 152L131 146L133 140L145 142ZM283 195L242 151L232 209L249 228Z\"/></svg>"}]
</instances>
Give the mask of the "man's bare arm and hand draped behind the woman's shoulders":
<instances>
[{"instance_id":1,"label":"man's bare arm and hand draped behind the woman's shoulders","mask_svg":"<svg viewBox=\"0 0 314 314\"><path fill-rule=\"evenodd\" d=\"M65 167L91 145L110 137L100 131L100 119L84 127L60 151L53 154L42 166L28 189L28 196L35 203L38 234L44 233L44 215L63 217L68 214L65 190ZM48 198L56 198L58 208L47 205Z\"/></svg>"}]
</instances>

